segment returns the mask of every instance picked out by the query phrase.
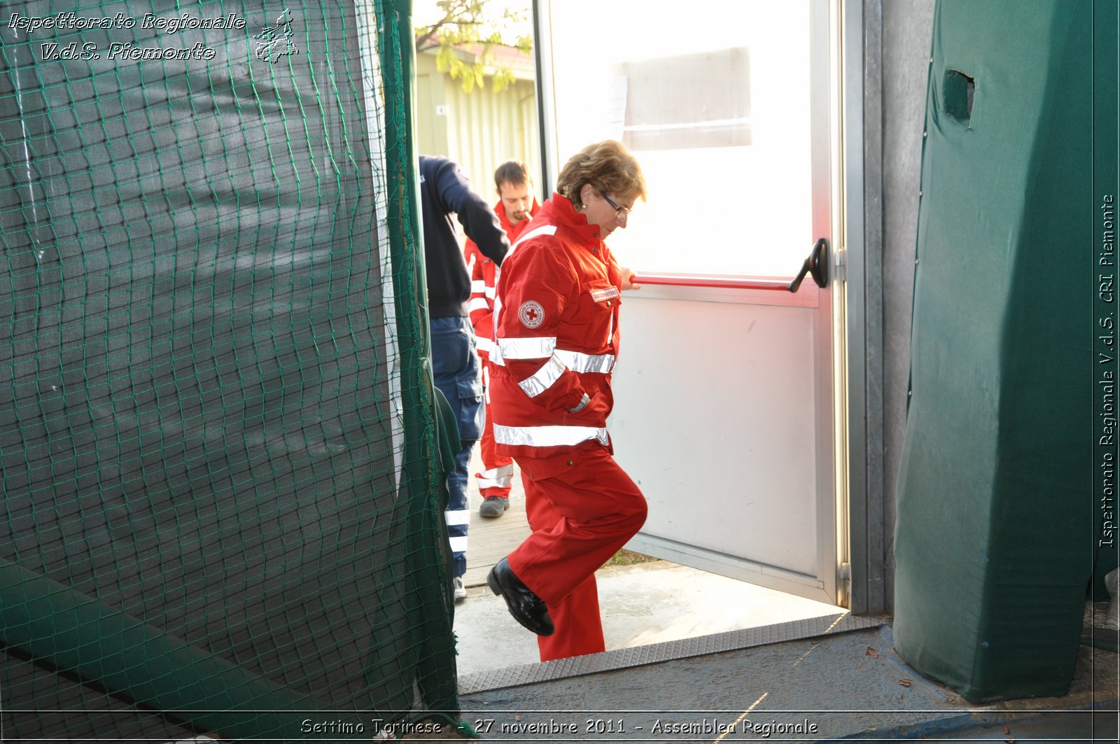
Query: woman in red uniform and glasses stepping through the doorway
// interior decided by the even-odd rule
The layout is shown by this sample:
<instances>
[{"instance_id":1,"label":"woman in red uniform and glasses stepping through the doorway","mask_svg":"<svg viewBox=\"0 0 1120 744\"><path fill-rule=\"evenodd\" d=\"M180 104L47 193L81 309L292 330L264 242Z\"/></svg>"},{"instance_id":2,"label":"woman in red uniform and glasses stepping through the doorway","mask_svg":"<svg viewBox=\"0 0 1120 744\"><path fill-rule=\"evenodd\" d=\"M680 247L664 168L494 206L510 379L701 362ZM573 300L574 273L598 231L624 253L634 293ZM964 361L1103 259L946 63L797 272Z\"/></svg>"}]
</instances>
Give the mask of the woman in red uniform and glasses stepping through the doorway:
<instances>
[{"instance_id":1,"label":"woman in red uniform and glasses stepping through the doorway","mask_svg":"<svg viewBox=\"0 0 1120 744\"><path fill-rule=\"evenodd\" d=\"M541 661L605 649L595 571L645 521L606 429L618 306L636 285L603 242L644 197L642 169L619 142L584 148L498 279L494 440L517 461L533 531L487 583L540 636Z\"/></svg>"}]
</instances>

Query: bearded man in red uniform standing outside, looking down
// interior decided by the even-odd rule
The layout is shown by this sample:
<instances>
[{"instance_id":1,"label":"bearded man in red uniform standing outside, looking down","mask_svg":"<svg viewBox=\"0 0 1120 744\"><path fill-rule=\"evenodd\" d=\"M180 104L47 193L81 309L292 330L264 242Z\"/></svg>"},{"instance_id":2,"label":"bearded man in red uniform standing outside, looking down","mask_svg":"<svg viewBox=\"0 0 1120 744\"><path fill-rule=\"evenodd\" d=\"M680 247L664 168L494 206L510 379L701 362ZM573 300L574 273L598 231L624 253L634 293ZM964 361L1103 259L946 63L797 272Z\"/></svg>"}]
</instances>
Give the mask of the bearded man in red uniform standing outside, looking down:
<instances>
[{"instance_id":1,"label":"bearded man in red uniform standing outside, looking down","mask_svg":"<svg viewBox=\"0 0 1120 744\"><path fill-rule=\"evenodd\" d=\"M494 205L502 229L513 243L525 231L530 220L541 207L532 194L532 180L524 162L508 160L494 171L498 203ZM498 455L494 446L494 422L489 409L489 351L494 347L494 295L497 288L497 263L487 258L473 240L467 241L464 257L470 270L470 324L475 328L475 345L483 362L486 425L478 440L482 449L483 472L475 473L478 505L482 517L501 517L510 508L510 487L513 482L513 458Z\"/></svg>"}]
</instances>

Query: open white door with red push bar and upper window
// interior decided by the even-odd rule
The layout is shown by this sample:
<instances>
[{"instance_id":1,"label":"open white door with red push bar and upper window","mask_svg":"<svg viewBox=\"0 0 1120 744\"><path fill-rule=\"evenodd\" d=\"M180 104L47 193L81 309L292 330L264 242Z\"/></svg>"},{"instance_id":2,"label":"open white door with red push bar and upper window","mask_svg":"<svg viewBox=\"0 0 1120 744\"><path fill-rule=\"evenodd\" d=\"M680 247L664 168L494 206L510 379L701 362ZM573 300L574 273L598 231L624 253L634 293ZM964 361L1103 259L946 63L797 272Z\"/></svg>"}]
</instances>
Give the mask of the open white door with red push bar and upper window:
<instances>
[{"instance_id":1,"label":"open white door with red push bar and upper window","mask_svg":"<svg viewBox=\"0 0 1120 744\"><path fill-rule=\"evenodd\" d=\"M839 234L833 3L538 10L550 183L610 138L648 186L608 241L646 280L623 298L608 422L650 501L628 547L844 604L834 259L823 288L773 280Z\"/></svg>"}]
</instances>

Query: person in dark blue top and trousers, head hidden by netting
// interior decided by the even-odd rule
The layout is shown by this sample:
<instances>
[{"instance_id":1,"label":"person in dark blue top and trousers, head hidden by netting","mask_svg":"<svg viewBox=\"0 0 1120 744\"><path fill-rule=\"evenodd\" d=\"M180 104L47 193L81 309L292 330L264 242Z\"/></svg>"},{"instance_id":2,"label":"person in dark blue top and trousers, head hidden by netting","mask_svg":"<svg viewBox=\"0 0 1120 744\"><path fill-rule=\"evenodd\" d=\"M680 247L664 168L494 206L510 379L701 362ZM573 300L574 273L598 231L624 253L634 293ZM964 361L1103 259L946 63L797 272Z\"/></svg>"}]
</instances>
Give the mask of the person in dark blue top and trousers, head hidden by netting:
<instances>
[{"instance_id":1,"label":"person in dark blue top and trousers, head hidden by netting","mask_svg":"<svg viewBox=\"0 0 1120 744\"><path fill-rule=\"evenodd\" d=\"M455 471L447 478L450 497L446 512L451 552L455 554L455 601L459 602L467 596L463 575L467 570L467 526L470 522L467 503L470 450L482 436L485 412L482 368L467 313L470 277L455 218L458 216L467 238L498 266L510 250L510 241L493 207L475 193L459 166L447 158L420 156L420 206L432 373L436 387L455 410L463 441L463 449L455 458Z\"/></svg>"}]
</instances>

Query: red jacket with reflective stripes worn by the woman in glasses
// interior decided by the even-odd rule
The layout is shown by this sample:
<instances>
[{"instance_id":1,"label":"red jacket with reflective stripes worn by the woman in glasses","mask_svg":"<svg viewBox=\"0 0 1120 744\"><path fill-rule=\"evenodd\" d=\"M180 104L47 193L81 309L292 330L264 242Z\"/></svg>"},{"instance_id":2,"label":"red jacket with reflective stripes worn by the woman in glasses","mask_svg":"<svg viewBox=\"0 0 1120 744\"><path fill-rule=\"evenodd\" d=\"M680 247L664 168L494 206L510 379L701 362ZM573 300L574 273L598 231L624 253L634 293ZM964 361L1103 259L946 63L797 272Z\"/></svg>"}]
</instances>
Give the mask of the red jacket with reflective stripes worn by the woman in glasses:
<instances>
[{"instance_id":1,"label":"red jacket with reflective stripes worn by the woman in glasses","mask_svg":"<svg viewBox=\"0 0 1120 744\"><path fill-rule=\"evenodd\" d=\"M500 454L610 449L620 301L622 270L599 227L553 194L498 277L491 410Z\"/></svg>"}]
</instances>

